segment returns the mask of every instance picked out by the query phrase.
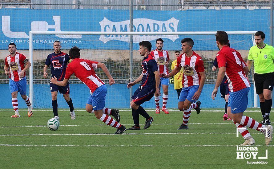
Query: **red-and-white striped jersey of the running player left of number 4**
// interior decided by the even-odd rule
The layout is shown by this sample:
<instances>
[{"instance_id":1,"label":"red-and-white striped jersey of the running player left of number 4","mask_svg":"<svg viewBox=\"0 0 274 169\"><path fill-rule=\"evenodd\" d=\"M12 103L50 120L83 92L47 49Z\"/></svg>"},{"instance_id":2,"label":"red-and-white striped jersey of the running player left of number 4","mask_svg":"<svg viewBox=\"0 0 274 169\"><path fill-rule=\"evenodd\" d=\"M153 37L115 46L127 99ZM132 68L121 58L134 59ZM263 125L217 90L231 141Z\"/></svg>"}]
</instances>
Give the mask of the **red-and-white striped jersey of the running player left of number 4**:
<instances>
[{"instance_id":1,"label":"red-and-white striped jersey of the running player left of number 4","mask_svg":"<svg viewBox=\"0 0 274 169\"><path fill-rule=\"evenodd\" d=\"M201 75L204 72L203 59L193 51L191 57L187 57L185 53L177 58L178 68L183 69L183 88L194 85L200 85Z\"/></svg>"}]
</instances>

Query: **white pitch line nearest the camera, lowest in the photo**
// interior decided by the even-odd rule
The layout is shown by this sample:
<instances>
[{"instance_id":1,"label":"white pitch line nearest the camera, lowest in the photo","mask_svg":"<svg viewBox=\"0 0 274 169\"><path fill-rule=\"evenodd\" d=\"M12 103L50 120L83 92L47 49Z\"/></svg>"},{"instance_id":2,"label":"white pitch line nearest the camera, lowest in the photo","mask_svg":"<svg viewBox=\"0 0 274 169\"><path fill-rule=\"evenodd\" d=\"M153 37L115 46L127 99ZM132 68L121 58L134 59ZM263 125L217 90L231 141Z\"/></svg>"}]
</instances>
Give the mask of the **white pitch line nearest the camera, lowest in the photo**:
<instances>
[{"instance_id":1,"label":"white pitch line nearest the camera, lowest in the photo","mask_svg":"<svg viewBox=\"0 0 274 169\"><path fill-rule=\"evenodd\" d=\"M31 144L0 144L0 146L11 146L11 147L236 147L236 145L31 145ZM256 145L265 146L265 145ZM267 147L273 147L274 145L268 145Z\"/></svg>"}]
</instances>

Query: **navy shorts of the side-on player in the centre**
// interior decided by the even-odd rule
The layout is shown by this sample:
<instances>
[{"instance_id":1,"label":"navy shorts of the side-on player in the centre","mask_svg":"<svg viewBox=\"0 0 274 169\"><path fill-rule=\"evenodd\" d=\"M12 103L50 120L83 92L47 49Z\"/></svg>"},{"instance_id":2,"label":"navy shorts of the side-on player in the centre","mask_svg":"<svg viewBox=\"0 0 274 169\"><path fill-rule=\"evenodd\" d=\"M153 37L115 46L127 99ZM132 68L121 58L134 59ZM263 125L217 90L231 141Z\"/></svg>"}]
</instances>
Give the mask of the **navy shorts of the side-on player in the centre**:
<instances>
[{"instance_id":1,"label":"navy shorts of the side-on player in the centre","mask_svg":"<svg viewBox=\"0 0 274 169\"><path fill-rule=\"evenodd\" d=\"M133 99L132 101L137 105L141 105L144 102L151 100L151 98L154 96L155 91L155 88L145 88L139 86L139 88L137 88L137 90L134 92L133 96L131 96L131 98Z\"/></svg>"}]
</instances>

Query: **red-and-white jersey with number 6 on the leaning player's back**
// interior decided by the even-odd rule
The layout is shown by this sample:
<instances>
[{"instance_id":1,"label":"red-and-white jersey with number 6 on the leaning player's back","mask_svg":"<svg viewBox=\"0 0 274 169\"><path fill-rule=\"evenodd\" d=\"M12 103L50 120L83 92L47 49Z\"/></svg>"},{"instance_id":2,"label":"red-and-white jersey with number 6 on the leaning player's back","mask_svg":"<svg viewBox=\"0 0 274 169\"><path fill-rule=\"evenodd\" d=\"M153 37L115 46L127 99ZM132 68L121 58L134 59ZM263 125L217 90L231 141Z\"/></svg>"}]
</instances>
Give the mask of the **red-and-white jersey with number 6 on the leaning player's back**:
<instances>
[{"instance_id":1,"label":"red-and-white jersey with number 6 on the leaning player's back","mask_svg":"<svg viewBox=\"0 0 274 169\"><path fill-rule=\"evenodd\" d=\"M96 61L75 58L66 68L65 79L69 79L74 73L93 93L96 88L105 84L94 71L94 69L97 69L98 63Z\"/></svg>"}]
</instances>

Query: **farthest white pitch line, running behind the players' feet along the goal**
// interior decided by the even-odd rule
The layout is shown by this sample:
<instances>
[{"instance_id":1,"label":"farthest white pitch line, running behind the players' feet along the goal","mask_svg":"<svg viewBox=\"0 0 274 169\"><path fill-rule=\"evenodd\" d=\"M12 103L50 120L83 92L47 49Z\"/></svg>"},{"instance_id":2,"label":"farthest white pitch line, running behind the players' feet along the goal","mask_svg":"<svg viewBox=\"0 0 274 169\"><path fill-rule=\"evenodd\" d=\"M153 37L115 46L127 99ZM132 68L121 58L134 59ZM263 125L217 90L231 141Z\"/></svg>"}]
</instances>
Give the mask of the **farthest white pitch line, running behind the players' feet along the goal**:
<instances>
[{"instance_id":1,"label":"farthest white pitch line, running behind the players' feet along the goal","mask_svg":"<svg viewBox=\"0 0 274 169\"><path fill-rule=\"evenodd\" d=\"M41 112L41 111L52 111L51 109L33 109L34 112ZM69 111L69 110L58 110L58 111ZM86 112L86 110L75 110ZM119 110L119 112L130 112L131 110ZM155 112L155 109L146 109L147 112ZM179 110L168 110L169 112L181 112ZM195 110L194 110L195 111ZM14 110L0 110L0 112L14 112ZM201 112L224 112L224 110L201 110ZM244 112L261 112L259 110L246 110Z\"/></svg>"}]
</instances>

